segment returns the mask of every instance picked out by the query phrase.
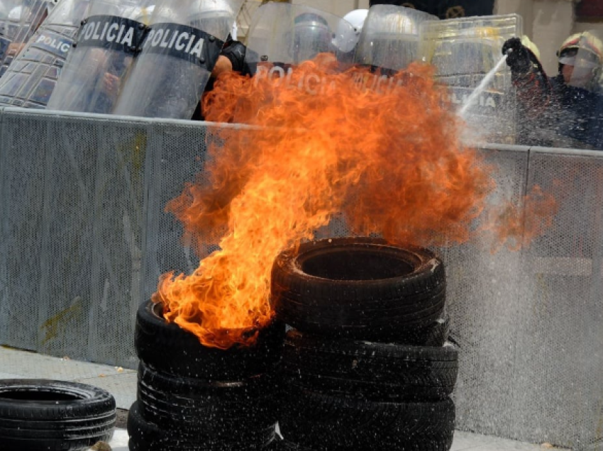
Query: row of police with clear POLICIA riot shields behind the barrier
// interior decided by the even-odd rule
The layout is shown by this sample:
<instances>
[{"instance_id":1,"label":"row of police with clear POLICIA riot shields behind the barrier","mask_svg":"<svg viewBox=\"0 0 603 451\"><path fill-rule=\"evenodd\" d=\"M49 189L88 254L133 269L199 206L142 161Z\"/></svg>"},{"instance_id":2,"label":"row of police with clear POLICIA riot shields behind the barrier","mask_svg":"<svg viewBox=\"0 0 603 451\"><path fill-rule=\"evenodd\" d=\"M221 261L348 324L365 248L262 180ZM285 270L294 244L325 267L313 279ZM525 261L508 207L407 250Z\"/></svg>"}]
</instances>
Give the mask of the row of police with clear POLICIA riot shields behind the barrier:
<instances>
[{"instance_id":1,"label":"row of police with clear POLICIA riot shields behind the barrier","mask_svg":"<svg viewBox=\"0 0 603 451\"><path fill-rule=\"evenodd\" d=\"M16 64L4 65L0 105L192 118L204 91L211 89L212 69L224 43L231 42L242 4L60 0ZM35 23L29 24L31 35ZM375 5L341 18L309 6L267 2L253 14L244 60L231 58L231 67L258 82L269 77L275 86L323 95L332 84L323 74L295 74L316 55L333 55L341 71L367 68L350 72L354 82L384 93L404 85L397 74L411 62L423 61L436 67L436 81L448 87L443 101L452 108L471 101L465 108L469 123L482 129L491 124L486 131L492 140L514 143L509 70L499 70L475 99L471 93L496 65L504 40L522 33L516 15L440 21L404 6Z\"/></svg>"}]
</instances>

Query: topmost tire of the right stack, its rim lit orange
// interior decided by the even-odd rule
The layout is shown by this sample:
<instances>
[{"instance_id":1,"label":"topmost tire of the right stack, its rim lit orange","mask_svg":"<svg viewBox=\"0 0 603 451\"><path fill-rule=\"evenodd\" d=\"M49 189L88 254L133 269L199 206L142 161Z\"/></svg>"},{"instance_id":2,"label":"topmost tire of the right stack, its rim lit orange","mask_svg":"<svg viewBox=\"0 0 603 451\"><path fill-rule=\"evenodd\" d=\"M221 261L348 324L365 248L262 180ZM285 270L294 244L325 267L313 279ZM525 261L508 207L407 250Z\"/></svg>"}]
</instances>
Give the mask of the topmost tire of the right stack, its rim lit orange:
<instances>
[{"instance_id":1,"label":"topmost tire of the right stack, its rim lit orange","mask_svg":"<svg viewBox=\"0 0 603 451\"><path fill-rule=\"evenodd\" d=\"M285 250L272 265L277 318L302 332L408 343L446 304L443 263L422 247L333 238Z\"/></svg>"}]
</instances>

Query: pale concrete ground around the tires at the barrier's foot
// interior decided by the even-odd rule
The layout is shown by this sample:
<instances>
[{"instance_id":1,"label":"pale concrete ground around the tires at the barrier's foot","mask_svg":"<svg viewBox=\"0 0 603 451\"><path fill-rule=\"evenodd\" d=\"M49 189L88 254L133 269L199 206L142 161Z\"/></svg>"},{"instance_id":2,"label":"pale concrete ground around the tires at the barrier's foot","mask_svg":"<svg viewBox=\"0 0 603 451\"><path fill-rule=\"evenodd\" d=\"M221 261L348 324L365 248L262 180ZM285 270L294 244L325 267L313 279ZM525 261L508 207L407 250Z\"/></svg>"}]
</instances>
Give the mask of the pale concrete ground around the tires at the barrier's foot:
<instances>
[{"instance_id":1,"label":"pale concrete ground around the tires at the barrier's foot","mask_svg":"<svg viewBox=\"0 0 603 451\"><path fill-rule=\"evenodd\" d=\"M50 357L35 352L0 346L0 379L59 379L82 382L106 389L116 400L117 429L109 443L114 451L128 450L126 418L136 400L136 372L133 369ZM569 451L548 444L532 444L487 435L456 431L451 451Z\"/></svg>"}]
</instances>

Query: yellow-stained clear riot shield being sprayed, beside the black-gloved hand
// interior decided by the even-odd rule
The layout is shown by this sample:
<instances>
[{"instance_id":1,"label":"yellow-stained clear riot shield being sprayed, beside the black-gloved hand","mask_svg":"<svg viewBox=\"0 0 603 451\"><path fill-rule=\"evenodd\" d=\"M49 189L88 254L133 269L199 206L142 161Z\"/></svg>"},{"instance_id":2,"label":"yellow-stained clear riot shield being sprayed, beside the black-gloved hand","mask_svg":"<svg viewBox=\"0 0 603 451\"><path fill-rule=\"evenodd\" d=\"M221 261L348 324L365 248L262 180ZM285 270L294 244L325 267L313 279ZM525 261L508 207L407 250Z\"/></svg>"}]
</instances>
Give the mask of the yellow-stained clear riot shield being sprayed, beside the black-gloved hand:
<instances>
[{"instance_id":1,"label":"yellow-stained clear riot shield being sprayed, beside the black-gloved hand","mask_svg":"<svg viewBox=\"0 0 603 451\"><path fill-rule=\"evenodd\" d=\"M515 143L516 106L504 41L523 33L521 16L477 16L421 24L421 57L448 87L444 101L468 123L472 137Z\"/></svg>"}]
</instances>

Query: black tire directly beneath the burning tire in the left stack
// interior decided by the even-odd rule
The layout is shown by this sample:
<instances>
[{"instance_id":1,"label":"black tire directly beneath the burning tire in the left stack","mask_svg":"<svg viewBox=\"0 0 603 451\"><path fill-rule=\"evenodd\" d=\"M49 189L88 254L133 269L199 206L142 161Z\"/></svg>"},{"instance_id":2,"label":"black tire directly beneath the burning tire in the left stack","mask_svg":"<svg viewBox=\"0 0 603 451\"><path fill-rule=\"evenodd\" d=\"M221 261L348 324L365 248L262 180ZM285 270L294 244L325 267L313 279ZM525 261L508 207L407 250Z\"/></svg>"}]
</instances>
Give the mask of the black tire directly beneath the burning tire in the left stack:
<instances>
[{"instance_id":1,"label":"black tire directly beneath the burning tire in the left stack","mask_svg":"<svg viewBox=\"0 0 603 451\"><path fill-rule=\"evenodd\" d=\"M162 429L212 438L274 429L276 392L275 377L270 375L224 384L172 377L143 362L138 367L138 409Z\"/></svg>"}]
</instances>

